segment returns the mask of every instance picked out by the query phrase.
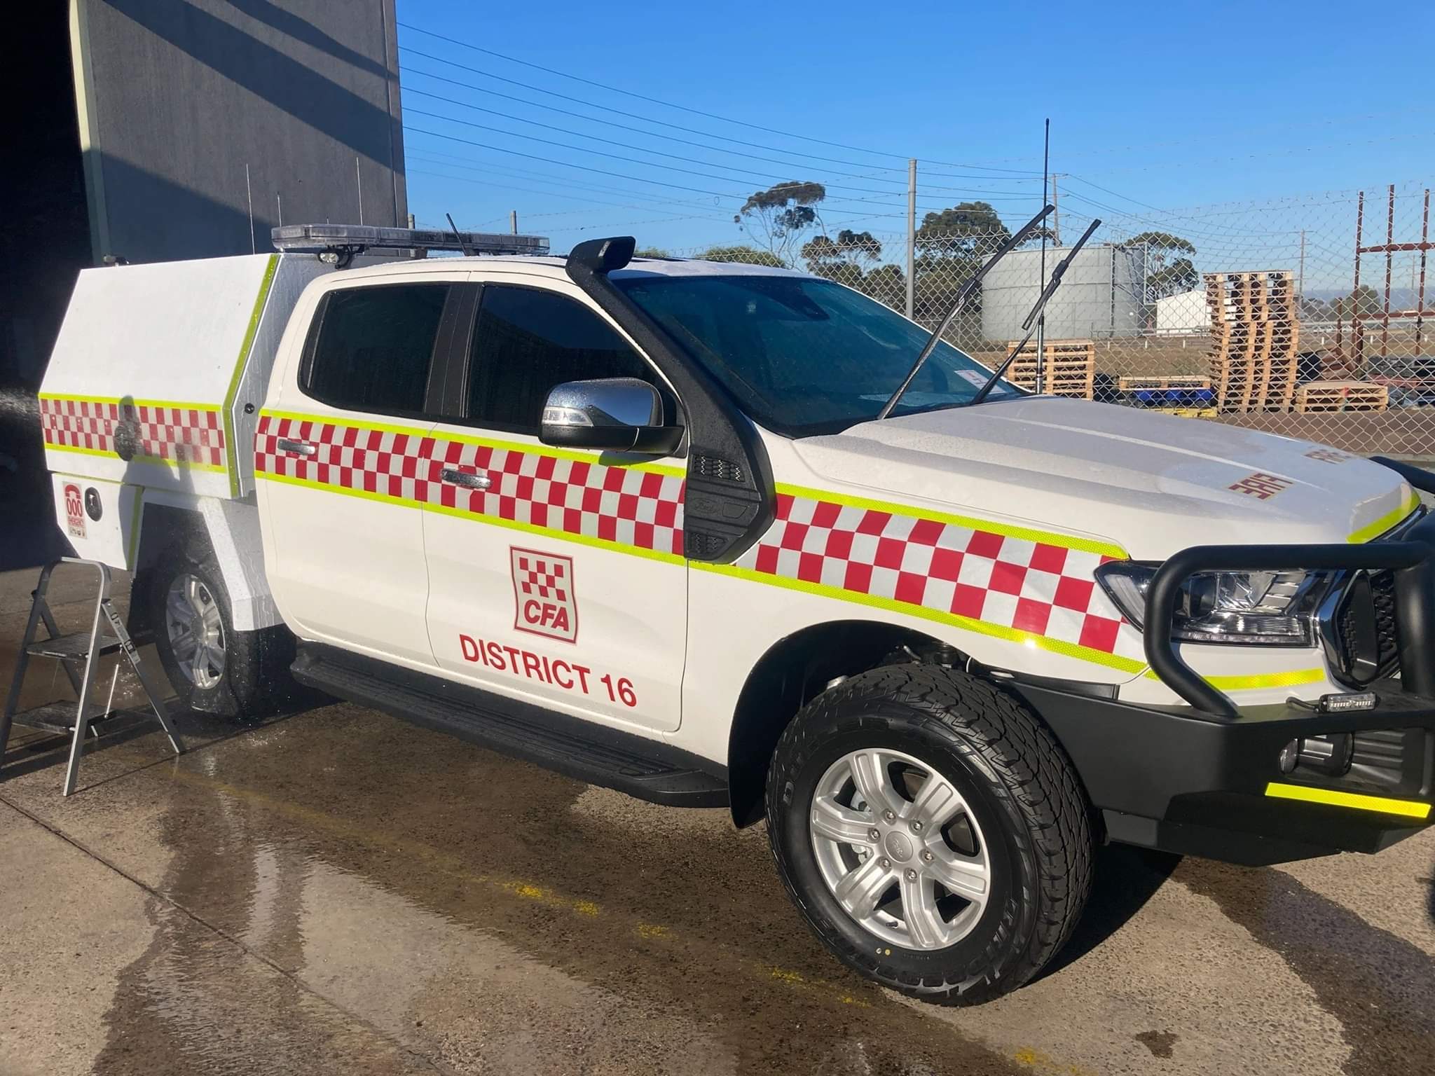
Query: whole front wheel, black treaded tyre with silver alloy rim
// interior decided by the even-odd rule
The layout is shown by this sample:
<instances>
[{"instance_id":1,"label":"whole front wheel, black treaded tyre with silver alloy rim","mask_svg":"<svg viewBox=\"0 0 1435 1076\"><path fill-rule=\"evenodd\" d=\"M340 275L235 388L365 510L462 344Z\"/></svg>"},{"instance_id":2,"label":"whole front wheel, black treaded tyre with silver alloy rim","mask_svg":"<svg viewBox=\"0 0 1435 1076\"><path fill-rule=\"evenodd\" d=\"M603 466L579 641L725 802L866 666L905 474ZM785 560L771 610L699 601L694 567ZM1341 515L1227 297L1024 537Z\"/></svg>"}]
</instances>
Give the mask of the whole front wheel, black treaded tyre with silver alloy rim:
<instances>
[{"instance_id":1,"label":"whole front wheel, black treaded tyre with silver alloy rim","mask_svg":"<svg viewBox=\"0 0 1435 1076\"><path fill-rule=\"evenodd\" d=\"M1029 981L1091 889L1071 762L1019 702L937 666L875 669L808 703L772 759L768 835L822 943L933 1001Z\"/></svg>"}]
</instances>

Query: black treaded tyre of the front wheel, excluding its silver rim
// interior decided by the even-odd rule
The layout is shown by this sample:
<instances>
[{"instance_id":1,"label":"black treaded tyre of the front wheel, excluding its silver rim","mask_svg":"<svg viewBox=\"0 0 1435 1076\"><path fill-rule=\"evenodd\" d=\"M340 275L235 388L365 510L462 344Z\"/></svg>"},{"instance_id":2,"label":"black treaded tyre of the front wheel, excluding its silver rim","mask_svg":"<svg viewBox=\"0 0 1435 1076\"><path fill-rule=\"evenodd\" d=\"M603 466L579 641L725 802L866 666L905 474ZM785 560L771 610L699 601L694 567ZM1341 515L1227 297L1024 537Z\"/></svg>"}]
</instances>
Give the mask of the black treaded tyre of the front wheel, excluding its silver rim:
<instances>
[{"instance_id":1,"label":"black treaded tyre of the front wheel, excluding its silver rim","mask_svg":"<svg viewBox=\"0 0 1435 1076\"><path fill-rule=\"evenodd\" d=\"M934 766L986 835L992 894L971 931L940 950L870 934L824 881L808 829L814 788L862 747ZM911 997L976 1004L1030 981L1071 937L1091 891L1092 828L1052 735L996 684L941 666L884 666L809 702L768 772L768 838L794 904L848 967Z\"/></svg>"}]
</instances>

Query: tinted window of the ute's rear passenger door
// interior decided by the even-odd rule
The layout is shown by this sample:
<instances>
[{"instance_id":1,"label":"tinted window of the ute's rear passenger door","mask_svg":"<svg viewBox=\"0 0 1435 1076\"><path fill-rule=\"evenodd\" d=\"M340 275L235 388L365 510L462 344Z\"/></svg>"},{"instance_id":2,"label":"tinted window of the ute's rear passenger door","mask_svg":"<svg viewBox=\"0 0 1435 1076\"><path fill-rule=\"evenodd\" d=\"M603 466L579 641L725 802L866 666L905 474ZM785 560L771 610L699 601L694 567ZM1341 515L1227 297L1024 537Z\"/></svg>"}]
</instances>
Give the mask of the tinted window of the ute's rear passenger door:
<instances>
[{"instance_id":1,"label":"tinted window of the ute's rear passenger door","mask_svg":"<svg viewBox=\"0 0 1435 1076\"><path fill-rule=\"evenodd\" d=\"M422 412L448 284L330 291L304 390L353 410Z\"/></svg>"}]
</instances>

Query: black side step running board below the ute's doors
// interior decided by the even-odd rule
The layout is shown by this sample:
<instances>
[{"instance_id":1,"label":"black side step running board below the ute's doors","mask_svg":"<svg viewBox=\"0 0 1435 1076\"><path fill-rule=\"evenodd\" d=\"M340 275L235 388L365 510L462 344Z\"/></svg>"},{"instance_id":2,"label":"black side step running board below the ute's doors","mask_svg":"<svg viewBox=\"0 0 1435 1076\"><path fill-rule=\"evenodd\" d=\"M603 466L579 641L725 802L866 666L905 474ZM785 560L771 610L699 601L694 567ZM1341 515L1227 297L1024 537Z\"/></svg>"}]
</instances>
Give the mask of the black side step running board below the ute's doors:
<instances>
[{"instance_id":1,"label":"black side step running board below the ute's doors","mask_svg":"<svg viewBox=\"0 0 1435 1076\"><path fill-rule=\"evenodd\" d=\"M309 687L590 785L669 806L728 806L722 766L659 740L316 643L300 643L293 673Z\"/></svg>"}]
</instances>

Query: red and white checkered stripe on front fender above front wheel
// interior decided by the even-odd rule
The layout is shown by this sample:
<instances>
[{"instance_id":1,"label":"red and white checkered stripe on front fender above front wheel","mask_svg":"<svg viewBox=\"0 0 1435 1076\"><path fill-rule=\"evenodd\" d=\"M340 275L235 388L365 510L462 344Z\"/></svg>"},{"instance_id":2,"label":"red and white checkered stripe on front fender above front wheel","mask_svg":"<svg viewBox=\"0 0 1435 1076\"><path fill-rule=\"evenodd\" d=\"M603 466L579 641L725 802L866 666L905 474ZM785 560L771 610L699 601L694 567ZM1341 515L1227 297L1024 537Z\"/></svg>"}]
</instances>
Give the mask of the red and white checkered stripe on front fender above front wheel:
<instances>
[{"instance_id":1,"label":"red and white checkered stripe on front fender above front wheel","mask_svg":"<svg viewBox=\"0 0 1435 1076\"><path fill-rule=\"evenodd\" d=\"M778 495L738 564L1141 660L1139 636L1096 585L1111 560L916 514Z\"/></svg>"}]
</instances>

